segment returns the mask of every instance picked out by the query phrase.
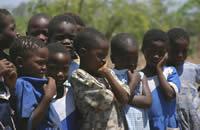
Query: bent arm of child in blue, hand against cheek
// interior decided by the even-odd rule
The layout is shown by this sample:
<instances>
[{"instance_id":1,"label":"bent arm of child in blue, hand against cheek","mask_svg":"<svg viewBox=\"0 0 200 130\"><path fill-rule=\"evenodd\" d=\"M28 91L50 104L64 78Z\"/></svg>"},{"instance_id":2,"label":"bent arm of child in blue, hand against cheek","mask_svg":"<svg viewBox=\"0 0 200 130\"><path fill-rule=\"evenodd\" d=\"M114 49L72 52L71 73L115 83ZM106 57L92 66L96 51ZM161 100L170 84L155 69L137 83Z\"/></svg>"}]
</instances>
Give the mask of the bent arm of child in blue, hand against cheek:
<instances>
[{"instance_id":1,"label":"bent arm of child in blue, hand against cheek","mask_svg":"<svg viewBox=\"0 0 200 130\"><path fill-rule=\"evenodd\" d=\"M163 74L163 66L165 65L167 58L168 56L167 54L165 54L165 56L157 64L156 71L157 71L160 87L161 87L161 90L163 91L163 94L165 95L167 100L171 100L176 96L176 92L174 88L167 82Z\"/></svg>"}]
</instances>

